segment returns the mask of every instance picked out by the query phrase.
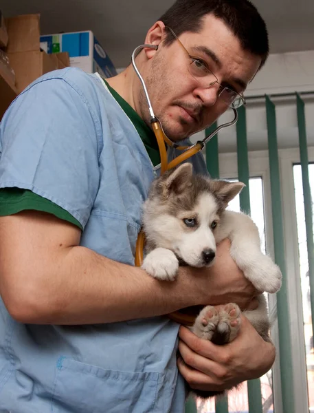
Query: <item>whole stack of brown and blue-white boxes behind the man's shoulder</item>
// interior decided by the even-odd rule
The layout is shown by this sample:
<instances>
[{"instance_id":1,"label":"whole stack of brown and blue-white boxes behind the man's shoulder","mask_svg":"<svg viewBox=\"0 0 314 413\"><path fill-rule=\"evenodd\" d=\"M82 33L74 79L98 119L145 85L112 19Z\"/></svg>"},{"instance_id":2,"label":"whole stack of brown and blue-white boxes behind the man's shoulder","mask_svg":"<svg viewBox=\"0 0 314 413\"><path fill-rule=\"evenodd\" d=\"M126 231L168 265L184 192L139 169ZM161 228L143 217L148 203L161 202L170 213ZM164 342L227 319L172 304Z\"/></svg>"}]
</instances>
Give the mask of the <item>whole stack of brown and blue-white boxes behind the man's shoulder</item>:
<instances>
[{"instance_id":1,"label":"whole stack of brown and blue-white boxes behind the man's shoulder","mask_svg":"<svg viewBox=\"0 0 314 413\"><path fill-rule=\"evenodd\" d=\"M3 19L0 11L0 120L36 78L67 66L104 77L117 74L93 32L41 36L39 14Z\"/></svg>"}]
</instances>

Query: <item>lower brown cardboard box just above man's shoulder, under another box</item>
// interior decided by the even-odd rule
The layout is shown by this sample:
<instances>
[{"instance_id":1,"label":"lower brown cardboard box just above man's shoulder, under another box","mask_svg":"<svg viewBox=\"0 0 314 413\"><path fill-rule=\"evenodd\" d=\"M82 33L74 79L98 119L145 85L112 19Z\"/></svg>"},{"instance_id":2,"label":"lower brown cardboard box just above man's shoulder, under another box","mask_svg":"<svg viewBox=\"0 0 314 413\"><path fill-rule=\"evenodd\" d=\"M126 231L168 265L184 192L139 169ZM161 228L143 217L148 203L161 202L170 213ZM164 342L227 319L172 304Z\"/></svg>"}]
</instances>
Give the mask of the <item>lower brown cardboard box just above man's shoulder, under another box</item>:
<instances>
[{"instance_id":1,"label":"lower brown cardboard box just above man's shoulder, under another box","mask_svg":"<svg viewBox=\"0 0 314 413\"><path fill-rule=\"evenodd\" d=\"M19 93L36 78L58 69L58 58L56 60L52 59L51 56L40 50L10 53L8 55L10 65L15 72L15 84Z\"/></svg>"}]
</instances>

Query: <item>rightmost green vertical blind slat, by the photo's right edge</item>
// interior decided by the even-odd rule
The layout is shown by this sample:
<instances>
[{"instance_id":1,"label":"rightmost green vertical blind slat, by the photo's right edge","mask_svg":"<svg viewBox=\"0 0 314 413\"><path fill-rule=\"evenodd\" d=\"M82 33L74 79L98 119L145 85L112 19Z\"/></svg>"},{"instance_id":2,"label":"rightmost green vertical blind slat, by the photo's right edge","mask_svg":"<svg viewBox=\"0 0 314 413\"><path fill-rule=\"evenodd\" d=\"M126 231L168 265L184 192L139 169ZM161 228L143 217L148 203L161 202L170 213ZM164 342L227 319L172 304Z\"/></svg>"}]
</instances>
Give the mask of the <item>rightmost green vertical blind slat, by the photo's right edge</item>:
<instances>
[{"instance_id":1,"label":"rightmost green vertical blind slat, by the photo's right edge","mask_svg":"<svg viewBox=\"0 0 314 413\"><path fill-rule=\"evenodd\" d=\"M309 180L309 158L307 153L304 101L297 94L297 112L300 142L300 160L302 169L302 184L304 197L304 213L306 226L306 244L309 260L310 297L312 311L312 331L314 332L314 242L313 242L313 212L311 187Z\"/></svg>"}]
</instances>

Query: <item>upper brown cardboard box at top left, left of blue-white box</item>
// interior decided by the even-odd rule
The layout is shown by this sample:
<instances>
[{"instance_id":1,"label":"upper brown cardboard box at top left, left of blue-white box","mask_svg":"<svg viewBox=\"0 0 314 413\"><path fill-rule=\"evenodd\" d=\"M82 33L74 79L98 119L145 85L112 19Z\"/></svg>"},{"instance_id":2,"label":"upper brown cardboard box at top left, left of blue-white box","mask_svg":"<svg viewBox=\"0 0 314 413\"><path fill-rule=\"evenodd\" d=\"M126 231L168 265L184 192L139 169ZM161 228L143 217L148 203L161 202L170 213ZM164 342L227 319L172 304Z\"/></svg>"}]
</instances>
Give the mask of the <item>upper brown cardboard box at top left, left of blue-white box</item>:
<instances>
[{"instance_id":1,"label":"upper brown cardboard box at top left, left of blue-white box","mask_svg":"<svg viewBox=\"0 0 314 413\"><path fill-rule=\"evenodd\" d=\"M23 14L5 19L8 30L7 53L40 50L39 14Z\"/></svg>"}]
</instances>

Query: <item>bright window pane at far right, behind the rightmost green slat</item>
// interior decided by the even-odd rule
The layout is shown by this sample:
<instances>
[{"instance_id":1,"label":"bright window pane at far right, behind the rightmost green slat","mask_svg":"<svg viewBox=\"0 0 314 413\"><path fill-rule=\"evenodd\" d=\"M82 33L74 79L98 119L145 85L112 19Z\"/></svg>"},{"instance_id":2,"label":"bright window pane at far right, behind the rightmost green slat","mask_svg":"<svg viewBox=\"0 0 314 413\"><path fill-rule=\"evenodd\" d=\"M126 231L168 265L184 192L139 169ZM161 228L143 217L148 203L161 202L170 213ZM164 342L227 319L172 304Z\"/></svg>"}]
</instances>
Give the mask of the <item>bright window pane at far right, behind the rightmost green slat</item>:
<instances>
[{"instance_id":1,"label":"bright window pane at far right, behind the rightmost green slat","mask_svg":"<svg viewBox=\"0 0 314 413\"><path fill-rule=\"evenodd\" d=\"M306 368L309 392L310 411L314 412L314 351L313 351L313 331L312 331L312 314L310 301L310 284L309 284L309 260L306 245L306 226L304 215L304 200L302 186L302 169L301 165L293 166L293 178L295 189L295 208L297 213L298 225L298 244L300 258L300 277L302 289L302 306L304 319L304 339L306 351ZM309 165L309 178L312 193L314 194L314 164ZM312 202L313 207L313 202ZM313 211L313 209L312 209ZM313 220L314 221L314 220ZM314 228L313 228L314 231Z\"/></svg>"}]
</instances>

